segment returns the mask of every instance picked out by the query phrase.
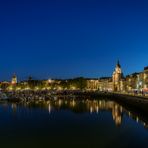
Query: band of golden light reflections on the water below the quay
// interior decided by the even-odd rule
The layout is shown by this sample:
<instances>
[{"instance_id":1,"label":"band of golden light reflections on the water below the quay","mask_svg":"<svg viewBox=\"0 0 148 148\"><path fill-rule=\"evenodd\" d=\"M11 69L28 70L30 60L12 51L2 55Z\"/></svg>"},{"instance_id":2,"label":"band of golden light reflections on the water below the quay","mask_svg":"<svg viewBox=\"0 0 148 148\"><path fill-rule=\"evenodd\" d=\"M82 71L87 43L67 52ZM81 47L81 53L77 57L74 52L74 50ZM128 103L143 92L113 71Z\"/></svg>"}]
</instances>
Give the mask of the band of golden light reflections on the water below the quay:
<instances>
[{"instance_id":1,"label":"band of golden light reflections on the water below the quay","mask_svg":"<svg viewBox=\"0 0 148 148\"><path fill-rule=\"evenodd\" d=\"M11 104L11 109L16 113L17 107L25 106L28 108L43 108L47 109L49 114L55 110L71 110L74 113L90 113L91 115L104 111L111 112L112 119L116 126L120 126L123 121L123 115L134 119L137 123L142 124L145 128L148 127L147 118L141 117L139 114L127 110L118 103L109 100L80 100L80 99L55 99L50 101L33 101L23 104Z\"/></svg>"}]
</instances>

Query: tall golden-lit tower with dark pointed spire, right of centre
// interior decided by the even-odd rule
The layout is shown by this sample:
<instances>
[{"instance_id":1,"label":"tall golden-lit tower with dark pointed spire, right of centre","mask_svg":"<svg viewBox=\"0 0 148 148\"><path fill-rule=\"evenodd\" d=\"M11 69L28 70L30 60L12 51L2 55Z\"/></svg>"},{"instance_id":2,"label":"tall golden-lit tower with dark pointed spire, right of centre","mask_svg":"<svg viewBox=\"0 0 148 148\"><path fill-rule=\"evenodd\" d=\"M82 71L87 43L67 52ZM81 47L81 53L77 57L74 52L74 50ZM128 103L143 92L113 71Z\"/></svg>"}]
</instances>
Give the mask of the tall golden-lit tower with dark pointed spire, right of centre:
<instances>
[{"instance_id":1,"label":"tall golden-lit tower with dark pointed spire, right of centre","mask_svg":"<svg viewBox=\"0 0 148 148\"><path fill-rule=\"evenodd\" d=\"M119 61L116 64L115 70L113 72L112 81L113 81L113 91L121 91L121 83L122 83L123 73L121 70L121 65Z\"/></svg>"}]
</instances>

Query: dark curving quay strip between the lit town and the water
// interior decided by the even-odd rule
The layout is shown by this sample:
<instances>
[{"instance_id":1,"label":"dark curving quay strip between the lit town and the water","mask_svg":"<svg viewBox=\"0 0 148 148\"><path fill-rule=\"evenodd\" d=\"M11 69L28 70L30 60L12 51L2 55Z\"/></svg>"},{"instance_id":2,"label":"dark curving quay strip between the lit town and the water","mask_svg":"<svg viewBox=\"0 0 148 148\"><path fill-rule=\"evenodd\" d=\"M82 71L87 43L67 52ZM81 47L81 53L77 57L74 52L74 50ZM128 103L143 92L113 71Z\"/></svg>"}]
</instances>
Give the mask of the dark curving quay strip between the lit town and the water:
<instances>
[{"instance_id":1,"label":"dark curving quay strip between the lit town and the water","mask_svg":"<svg viewBox=\"0 0 148 148\"><path fill-rule=\"evenodd\" d=\"M27 92L5 92L8 102L19 101L36 101L36 100L50 100L50 99L108 99L116 101L117 103L124 103L127 106L134 107L138 110L148 113L148 98L143 96L133 96L130 94L110 93L110 92L89 92L89 91L63 91L63 92L50 92L50 91L27 91Z\"/></svg>"}]
</instances>

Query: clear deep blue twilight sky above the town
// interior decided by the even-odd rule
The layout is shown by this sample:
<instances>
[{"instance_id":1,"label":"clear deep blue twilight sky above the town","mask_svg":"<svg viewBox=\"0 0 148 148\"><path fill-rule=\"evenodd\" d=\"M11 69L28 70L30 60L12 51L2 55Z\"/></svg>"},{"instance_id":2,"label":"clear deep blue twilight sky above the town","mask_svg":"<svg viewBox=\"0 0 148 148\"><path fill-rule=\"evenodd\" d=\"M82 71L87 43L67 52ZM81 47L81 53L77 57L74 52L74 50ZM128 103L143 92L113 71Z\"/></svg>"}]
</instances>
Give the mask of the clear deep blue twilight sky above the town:
<instances>
[{"instance_id":1,"label":"clear deep blue twilight sky above the town","mask_svg":"<svg viewBox=\"0 0 148 148\"><path fill-rule=\"evenodd\" d=\"M148 65L147 0L0 0L0 80L110 76Z\"/></svg>"}]
</instances>

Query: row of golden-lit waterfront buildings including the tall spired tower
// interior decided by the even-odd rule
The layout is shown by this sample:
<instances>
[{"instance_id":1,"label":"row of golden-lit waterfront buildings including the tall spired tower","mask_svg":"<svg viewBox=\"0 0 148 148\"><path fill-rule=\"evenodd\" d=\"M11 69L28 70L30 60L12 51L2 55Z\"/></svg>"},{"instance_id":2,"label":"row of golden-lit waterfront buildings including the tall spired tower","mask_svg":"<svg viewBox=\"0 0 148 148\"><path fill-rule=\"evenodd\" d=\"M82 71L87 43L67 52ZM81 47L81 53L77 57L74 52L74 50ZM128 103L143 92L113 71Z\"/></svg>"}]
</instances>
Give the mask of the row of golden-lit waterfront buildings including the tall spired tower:
<instances>
[{"instance_id":1,"label":"row of golden-lit waterfront buildings including the tall spired tower","mask_svg":"<svg viewBox=\"0 0 148 148\"><path fill-rule=\"evenodd\" d=\"M148 92L148 67L145 67L140 73L133 73L124 77L118 61L112 77L87 80L87 89L114 92Z\"/></svg>"}]
</instances>

